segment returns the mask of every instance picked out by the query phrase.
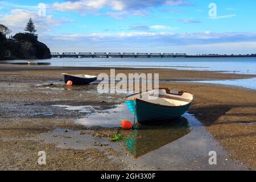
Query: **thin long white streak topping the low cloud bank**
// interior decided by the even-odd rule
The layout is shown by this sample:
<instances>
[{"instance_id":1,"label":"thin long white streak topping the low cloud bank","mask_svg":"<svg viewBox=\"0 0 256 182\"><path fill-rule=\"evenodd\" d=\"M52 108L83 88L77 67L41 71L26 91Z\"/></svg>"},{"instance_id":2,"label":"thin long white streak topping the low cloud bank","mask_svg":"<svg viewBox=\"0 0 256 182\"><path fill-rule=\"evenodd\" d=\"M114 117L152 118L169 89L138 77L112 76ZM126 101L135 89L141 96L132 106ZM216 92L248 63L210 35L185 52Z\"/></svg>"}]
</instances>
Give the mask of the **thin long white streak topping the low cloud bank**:
<instances>
[{"instance_id":1,"label":"thin long white streak topping the low cloud bank","mask_svg":"<svg viewBox=\"0 0 256 182\"><path fill-rule=\"evenodd\" d=\"M253 42L256 41L256 32L198 32L198 33L174 33L174 32L119 32L112 34L51 34L55 39L82 39L82 38L99 38L101 40L118 39L118 38L136 38L162 39L169 41L171 44L206 44L206 43L224 43L224 42ZM180 41L182 40L182 42Z\"/></svg>"}]
</instances>

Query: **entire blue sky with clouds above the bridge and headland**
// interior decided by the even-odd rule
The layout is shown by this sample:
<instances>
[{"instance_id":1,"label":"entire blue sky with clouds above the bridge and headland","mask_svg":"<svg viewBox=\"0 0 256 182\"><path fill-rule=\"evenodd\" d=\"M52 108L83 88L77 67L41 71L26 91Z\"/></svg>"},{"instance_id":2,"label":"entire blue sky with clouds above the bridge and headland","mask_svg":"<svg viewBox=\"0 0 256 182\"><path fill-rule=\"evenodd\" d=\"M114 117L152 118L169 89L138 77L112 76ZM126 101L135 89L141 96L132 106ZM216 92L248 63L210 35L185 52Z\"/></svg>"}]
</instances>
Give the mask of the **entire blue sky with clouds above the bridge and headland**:
<instances>
[{"instance_id":1,"label":"entire blue sky with clouds above the bridge and headland","mask_svg":"<svg viewBox=\"0 0 256 182\"><path fill-rule=\"evenodd\" d=\"M0 24L29 18L51 52L256 53L256 1L0 0Z\"/></svg>"}]
</instances>

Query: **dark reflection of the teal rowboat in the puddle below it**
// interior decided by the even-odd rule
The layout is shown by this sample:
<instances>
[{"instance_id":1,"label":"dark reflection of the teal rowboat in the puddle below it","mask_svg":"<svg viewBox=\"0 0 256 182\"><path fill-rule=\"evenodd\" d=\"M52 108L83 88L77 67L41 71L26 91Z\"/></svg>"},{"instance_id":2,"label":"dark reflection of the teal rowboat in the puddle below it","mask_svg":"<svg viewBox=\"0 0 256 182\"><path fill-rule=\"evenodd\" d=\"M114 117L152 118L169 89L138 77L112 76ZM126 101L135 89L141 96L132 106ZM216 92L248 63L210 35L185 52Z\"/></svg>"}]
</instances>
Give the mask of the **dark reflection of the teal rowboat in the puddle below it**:
<instances>
[{"instance_id":1,"label":"dark reflection of the teal rowboat in the puddle below it","mask_svg":"<svg viewBox=\"0 0 256 182\"><path fill-rule=\"evenodd\" d=\"M134 155L134 158L138 158L184 137L190 131L191 127L184 117L176 118L172 122L162 122L155 126L136 123L133 134L125 140L125 146Z\"/></svg>"}]
</instances>

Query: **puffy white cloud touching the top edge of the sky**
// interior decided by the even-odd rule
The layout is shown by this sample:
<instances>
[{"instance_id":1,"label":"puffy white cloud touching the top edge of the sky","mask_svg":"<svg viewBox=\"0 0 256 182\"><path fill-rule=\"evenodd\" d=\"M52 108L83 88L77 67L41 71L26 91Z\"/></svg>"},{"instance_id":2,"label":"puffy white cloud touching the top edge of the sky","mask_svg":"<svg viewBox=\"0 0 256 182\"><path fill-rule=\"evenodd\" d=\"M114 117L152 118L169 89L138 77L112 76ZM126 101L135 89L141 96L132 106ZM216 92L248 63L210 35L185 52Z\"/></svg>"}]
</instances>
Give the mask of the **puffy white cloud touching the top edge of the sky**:
<instances>
[{"instance_id":1,"label":"puffy white cloud touching the top edge of the sky","mask_svg":"<svg viewBox=\"0 0 256 182\"><path fill-rule=\"evenodd\" d=\"M55 2L52 4L53 9L59 11L78 11L82 15L96 13L98 10L107 9L107 15L121 19L121 16L127 15L146 15L148 7L161 5L168 6L191 6L187 0L78 0L67 2ZM110 10L110 11L109 11ZM114 12L111 10L115 10Z\"/></svg>"}]
</instances>

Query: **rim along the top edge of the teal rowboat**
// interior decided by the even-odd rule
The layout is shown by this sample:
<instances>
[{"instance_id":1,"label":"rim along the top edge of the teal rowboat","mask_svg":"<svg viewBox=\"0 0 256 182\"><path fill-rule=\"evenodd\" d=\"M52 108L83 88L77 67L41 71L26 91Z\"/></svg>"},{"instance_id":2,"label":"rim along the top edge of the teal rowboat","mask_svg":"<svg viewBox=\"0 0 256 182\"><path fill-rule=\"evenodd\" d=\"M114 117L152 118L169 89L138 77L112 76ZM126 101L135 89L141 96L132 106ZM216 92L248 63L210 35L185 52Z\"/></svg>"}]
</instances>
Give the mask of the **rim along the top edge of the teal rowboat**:
<instances>
[{"instance_id":1,"label":"rim along the top edge of the teal rowboat","mask_svg":"<svg viewBox=\"0 0 256 182\"><path fill-rule=\"evenodd\" d=\"M128 99L127 97L131 97L131 96L135 96L135 95L137 95L137 94L140 94L140 93L134 93L134 94L130 94L129 96L126 96L125 98L123 98L123 100L125 100L125 101L141 101L141 102L144 102L144 103L147 103L147 104L151 104L151 105L155 105L155 106L161 106L161 107L185 107L185 106L188 106L188 105L190 105L191 103L192 103L192 101L193 101L193 94L192 93L190 93L190 92L187 92L187 91L179 91L179 94L175 94L175 93L170 93L171 92L171 90L170 89L167 89L167 88L159 88L159 89L164 89L164 90L166 90L166 93L167 94L173 94L173 95L176 95L176 96L182 96L183 95L183 93L189 93L189 94L191 94L192 95L192 100L190 101L190 102L188 102L188 104L185 104L185 105L181 105L181 106L167 106L167 105L160 105L160 104L155 104L155 103L152 103L152 102L148 102L148 101L144 101L144 100L141 100L141 99L139 99L139 98L132 98L132 99ZM155 90L155 89L152 89L152 90ZM151 90L147 90L146 92L148 92L148 91L151 91ZM170 100L174 100L174 99L170 99Z\"/></svg>"}]
</instances>

